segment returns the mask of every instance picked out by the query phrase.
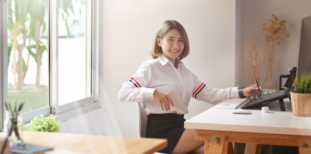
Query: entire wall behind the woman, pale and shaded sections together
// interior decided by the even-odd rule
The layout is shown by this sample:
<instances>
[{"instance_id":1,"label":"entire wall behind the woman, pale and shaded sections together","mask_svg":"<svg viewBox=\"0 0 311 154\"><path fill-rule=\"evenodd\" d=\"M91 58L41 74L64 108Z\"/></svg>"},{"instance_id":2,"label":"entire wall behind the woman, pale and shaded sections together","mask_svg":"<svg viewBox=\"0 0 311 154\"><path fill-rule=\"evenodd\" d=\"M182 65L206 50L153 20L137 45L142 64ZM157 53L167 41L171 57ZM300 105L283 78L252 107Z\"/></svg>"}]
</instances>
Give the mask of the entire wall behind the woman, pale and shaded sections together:
<instances>
[{"instance_id":1,"label":"entire wall behind the woman, pale and shaded sections together","mask_svg":"<svg viewBox=\"0 0 311 154\"><path fill-rule=\"evenodd\" d=\"M300 19L311 15L309 0L99 1L101 108L62 122L63 132L138 136L138 105L120 102L117 94L122 83L151 58L148 50L166 19L179 21L188 33L191 50L183 62L207 85L225 88L250 85L244 59L253 42L265 54L261 28L273 13L288 20L291 33L277 49L274 66L275 77L287 74L287 68L297 63ZM261 79L266 76L266 67L265 61L259 70ZM210 106L192 99L186 118Z\"/></svg>"}]
</instances>

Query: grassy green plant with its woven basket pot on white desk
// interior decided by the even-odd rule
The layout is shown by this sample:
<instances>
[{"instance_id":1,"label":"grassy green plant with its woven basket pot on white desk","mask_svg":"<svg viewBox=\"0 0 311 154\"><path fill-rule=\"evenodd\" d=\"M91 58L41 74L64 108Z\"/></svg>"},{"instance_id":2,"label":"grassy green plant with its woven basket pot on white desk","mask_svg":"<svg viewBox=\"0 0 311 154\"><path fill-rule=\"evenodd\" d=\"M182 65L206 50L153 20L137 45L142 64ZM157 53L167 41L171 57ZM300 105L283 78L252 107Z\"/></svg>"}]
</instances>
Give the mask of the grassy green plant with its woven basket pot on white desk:
<instances>
[{"instance_id":1,"label":"grassy green plant with its woven basket pot on white desk","mask_svg":"<svg viewBox=\"0 0 311 154\"><path fill-rule=\"evenodd\" d=\"M290 93L293 114L311 116L311 73L302 73L295 81L295 91Z\"/></svg>"}]
</instances>

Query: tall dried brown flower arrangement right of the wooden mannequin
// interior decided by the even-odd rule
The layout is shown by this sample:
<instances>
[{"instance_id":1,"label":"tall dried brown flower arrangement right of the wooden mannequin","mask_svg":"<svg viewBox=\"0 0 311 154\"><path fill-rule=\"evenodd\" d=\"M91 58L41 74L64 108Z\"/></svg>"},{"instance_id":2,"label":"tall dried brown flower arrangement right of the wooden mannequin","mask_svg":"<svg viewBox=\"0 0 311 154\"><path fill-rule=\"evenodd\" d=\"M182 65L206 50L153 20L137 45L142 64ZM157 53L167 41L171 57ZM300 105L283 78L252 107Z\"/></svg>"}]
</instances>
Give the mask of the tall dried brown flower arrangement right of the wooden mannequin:
<instances>
[{"instance_id":1,"label":"tall dried brown flower arrangement right of the wooden mannequin","mask_svg":"<svg viewBox=\"0 0 311 154\"><path fill-rule=\"evenodd\" d=\"M272 84L272 63L274 54L276 52L275 47L276 45L281 45L281 40L290 36L290 33L287 32L285 23L286 20L279 20L279 18L272 14L272 19L269 19L270 25L268 23L264 23L262 31L265 36L265 41L267 45L267 52L268 52L268 76L267 76L267 83L266 88L270 89Z\"/></svg>"}]
</instances>

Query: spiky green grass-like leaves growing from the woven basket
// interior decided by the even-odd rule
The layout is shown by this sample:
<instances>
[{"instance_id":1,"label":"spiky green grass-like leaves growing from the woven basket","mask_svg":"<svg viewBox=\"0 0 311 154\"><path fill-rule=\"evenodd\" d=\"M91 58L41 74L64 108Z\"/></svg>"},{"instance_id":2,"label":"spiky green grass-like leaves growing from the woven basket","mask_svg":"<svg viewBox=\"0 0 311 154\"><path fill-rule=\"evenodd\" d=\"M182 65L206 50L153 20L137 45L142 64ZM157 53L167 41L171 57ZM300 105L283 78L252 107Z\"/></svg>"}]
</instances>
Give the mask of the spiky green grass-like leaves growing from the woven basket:
<instances>
[{"instance_id":1,"label":"spiky green grass-like leaves growing from the woven basket","mask_svg":"<svg viewBox=\"0 0 311 154\"><path fill-rule=\"evenodd\" d=\"M297 93L311 93L311 73L302 73L300 79L296 78L295 83L295 91Z\"/></svg>"}]
</instances>

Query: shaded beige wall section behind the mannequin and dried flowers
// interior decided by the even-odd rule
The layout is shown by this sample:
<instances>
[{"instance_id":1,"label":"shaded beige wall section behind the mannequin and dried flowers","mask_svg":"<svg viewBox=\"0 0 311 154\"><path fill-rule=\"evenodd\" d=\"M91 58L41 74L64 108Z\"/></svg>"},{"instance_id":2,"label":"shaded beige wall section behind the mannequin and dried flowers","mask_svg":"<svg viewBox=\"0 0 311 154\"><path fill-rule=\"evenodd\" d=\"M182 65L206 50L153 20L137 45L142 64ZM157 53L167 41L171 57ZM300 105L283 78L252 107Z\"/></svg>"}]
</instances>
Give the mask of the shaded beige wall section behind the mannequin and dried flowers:
<instances>
[{"instance_id":1,"label":"shaded beige wall section behind the mannequin and dried flowers","mask_svg":"<svg viewBox=\"0 0 311 154\"><path fill-rule=\"evenodd\" d=\"M240 57L239 67L243 78L239 78L236 84L249 85L251 83L250 68L246 67L244 59L248 51L251 51L251 44L256 43L256 50L260 51L264 56L263 67L259 68L259 78L262 83L268 73L268 55L264 35L262 32L262 24L267 23L271 19L272 14L276 14L279 19L286 19L286 28L290 32L290 36L281 41L281 46L276 47L272 72L274 79L279 87L280 75L289 74L287 68L297 66L299 38L300 38L300 23L301 18L311 15L310 0L244 0L243 2L243 39L238 42L242 43L242 53ZM238 22L238 21L237 21ZM249 63L250 63L250 59ZM261 57L257 57L258 65Z\"/></svg>"}]
</instances>

